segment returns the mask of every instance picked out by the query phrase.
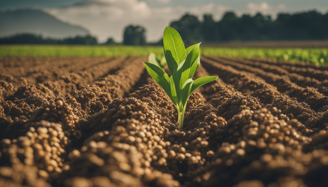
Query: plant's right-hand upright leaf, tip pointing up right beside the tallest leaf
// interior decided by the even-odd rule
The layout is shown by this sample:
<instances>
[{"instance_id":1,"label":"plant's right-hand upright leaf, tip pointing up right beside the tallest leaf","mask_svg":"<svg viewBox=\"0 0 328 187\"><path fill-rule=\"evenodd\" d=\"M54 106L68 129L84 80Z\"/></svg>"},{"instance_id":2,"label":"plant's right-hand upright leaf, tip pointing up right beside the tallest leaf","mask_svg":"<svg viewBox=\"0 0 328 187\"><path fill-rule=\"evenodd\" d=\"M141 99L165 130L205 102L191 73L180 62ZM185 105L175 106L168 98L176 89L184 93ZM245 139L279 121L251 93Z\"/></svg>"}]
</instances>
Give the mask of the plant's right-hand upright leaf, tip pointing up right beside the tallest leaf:
<instances>
[{"instance_id":1,"label":"plant's right-hand upright leaf, tip pointing up right beside the tallest leaf","mask_svg":"<svg viewBox=\"0 0 328 187\"><path fill-rule=\"evenodd\" d=\"M178 74L181 74L180 78L180 88L182 87L182 84L184 84L188 79L193 78L196 68L197 68L197 63L199 59L199 44L194 45L194 48L192 48L184 63L180 64L182 65L180 68L180 65L178 67Z\"/></svg>"}]
</instances>

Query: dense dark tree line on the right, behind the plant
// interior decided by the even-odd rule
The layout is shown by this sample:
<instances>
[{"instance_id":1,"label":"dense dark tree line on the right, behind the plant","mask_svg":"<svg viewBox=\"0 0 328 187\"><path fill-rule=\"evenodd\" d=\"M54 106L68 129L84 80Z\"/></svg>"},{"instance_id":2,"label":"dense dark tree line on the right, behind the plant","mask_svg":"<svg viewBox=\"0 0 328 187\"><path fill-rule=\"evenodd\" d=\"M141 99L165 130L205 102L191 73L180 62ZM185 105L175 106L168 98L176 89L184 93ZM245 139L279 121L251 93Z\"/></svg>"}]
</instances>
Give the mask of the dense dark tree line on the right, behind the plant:
<instances>
[{"instance_id":1,"label":"dense dark tree line on the right, behind the plant","mask_svg":"<svg viewBox=\"0 0 328 187\"><path fill-rule=\"evenodd\" d=\"M238 17L226 12L218 22L212 15L203 15L199 21L194 15L185 14L170 25L186 43L197 41L263 41L263 40L327 40L328 13L315 10L295 14L279 13L277 19L257 13Z\"/></svg>"}]
</instances>

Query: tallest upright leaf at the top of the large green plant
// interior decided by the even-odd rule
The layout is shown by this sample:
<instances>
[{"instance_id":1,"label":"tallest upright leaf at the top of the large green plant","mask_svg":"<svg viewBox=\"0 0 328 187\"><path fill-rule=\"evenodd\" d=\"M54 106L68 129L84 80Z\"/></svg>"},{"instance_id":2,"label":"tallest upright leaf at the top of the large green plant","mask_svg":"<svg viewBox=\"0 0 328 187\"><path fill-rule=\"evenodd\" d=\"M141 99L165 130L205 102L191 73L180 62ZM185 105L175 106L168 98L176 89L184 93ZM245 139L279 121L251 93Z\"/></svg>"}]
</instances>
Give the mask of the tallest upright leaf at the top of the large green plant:
<instances>
[{"instance_id":1,"label":"tallest upright leaf at the top of the large green plant","mask_svg":"<svg viewBox=\"0 0 328 187\"><path fill-rule=\"evenodd\" d=\"M180 34L172 27L166 27L163 34L164 55L171 75L186 59L186 49Z\"/></svg>"}]
</instances>

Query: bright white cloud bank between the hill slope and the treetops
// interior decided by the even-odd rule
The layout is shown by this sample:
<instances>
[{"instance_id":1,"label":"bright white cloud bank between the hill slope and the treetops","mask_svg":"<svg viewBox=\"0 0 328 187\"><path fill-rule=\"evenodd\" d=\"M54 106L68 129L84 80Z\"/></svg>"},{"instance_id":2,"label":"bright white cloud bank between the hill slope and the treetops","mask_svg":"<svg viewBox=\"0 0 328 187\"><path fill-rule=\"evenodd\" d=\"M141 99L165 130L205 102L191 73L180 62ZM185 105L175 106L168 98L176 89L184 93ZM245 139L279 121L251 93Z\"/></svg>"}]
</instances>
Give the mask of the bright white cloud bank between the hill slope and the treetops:
<instances>
[{"instance_id":1,"label":"bright white cloud bank between the hill slope and the treetops","mask_svg":"<svg viewBox=\"0 0 328 187\"><path fill-rule=\"evenodd\" d=\"M150 1L150 0L148 0ZM169 0L153 0L168 2ZM285 9L282 5L272 7L267 3L247 5L249 13L258 11L265 14L276 14ZM68 7L45 9L53 16L90 30L91 34L104 42L113 37L116 41L122 41L123 29L129 25L141 25L147 30L147 40L157 41L162 37L165 26L171 21L179 19L186 12L198 16L200 19L204 13L213 14L214 19L219 20L222 14L231 10L230 7L214 3L197 7L163 6L150 7L146 1L138 0L83 0L80 3ZM241 12L236 12L241 14Z\"/></svg>"}]
</instances>

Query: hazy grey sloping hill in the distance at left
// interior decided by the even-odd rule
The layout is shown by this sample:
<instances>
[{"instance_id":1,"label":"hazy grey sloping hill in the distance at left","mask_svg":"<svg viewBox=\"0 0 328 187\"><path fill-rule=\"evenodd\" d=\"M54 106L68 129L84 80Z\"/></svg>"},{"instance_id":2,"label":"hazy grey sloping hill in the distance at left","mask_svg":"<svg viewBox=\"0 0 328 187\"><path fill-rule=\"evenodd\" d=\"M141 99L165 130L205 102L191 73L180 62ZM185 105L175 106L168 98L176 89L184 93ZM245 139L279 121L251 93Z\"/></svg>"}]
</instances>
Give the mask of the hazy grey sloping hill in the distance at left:
<instances>
[{"instance_id":1,"label":"hazy grey sloping hill in the distance at left","mask_svg":"<svg viewBox=\"0 0 328 187\"><path fill-rule=\"evenodd\" d=\"M41 34L51 38L90 34L87 29L62 22L42 10L0 11L0 37L17 33Z\"/></svg>"}]
</instances>

